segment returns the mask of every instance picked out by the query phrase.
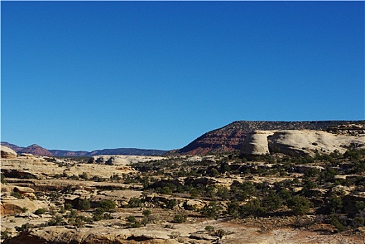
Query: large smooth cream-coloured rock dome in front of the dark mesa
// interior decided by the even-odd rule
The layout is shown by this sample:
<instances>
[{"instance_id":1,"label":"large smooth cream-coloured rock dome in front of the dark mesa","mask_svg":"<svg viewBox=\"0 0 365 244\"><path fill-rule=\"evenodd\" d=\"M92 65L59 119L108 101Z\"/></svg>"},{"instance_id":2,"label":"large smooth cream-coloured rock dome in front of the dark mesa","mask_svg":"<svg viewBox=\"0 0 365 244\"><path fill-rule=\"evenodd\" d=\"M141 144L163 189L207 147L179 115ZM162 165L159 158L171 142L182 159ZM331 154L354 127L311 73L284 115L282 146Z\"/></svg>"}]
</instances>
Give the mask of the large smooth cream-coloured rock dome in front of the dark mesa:
<instances>
[{"instance_id":1,"label":"large smooth cream-coloured rock dome in front of the dark mesa","mask_svg":"<svg viewBox=\"0 0 365 244\"><path fill-rule=\"evenodd\" d=\"M265 155L281 152L294 155L316 155L337 150L345 153L346 147L365 148L365 135L334 135L319 130L255 131L244 139L241 155Z\"/></svg>"}]
</instances>

